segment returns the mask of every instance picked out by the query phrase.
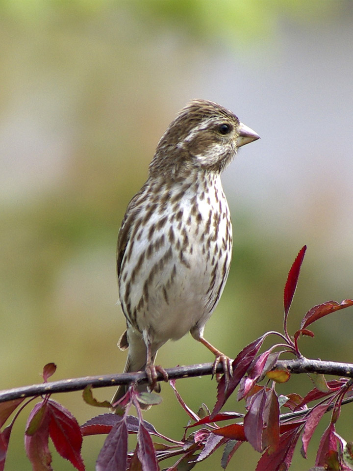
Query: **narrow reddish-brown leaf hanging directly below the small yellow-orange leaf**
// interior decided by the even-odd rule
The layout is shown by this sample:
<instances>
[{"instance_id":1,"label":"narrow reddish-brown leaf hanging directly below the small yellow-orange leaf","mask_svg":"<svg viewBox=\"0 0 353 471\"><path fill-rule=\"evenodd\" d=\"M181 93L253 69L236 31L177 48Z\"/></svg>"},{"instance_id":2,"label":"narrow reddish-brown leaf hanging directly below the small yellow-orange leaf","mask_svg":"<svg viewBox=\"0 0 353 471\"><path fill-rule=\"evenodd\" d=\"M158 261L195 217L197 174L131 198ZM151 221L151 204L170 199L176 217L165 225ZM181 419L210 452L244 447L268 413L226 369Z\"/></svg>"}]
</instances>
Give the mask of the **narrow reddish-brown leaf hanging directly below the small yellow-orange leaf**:
<instances>
[{"instance_id":1,"label":"narrow reddish-brown leaf hanging directly below the small yellow-orange leaf","mask_svg":"<svg viewBox=\"0 0 353 471\"><path fill-rule=\"evenodd\" d=\"M279 404L274 389L267 392L262 418L264 425L262 431L262 446L264 448L270 446L272 450L275 450L279 443Z\"/></svg>"}]
</instances>

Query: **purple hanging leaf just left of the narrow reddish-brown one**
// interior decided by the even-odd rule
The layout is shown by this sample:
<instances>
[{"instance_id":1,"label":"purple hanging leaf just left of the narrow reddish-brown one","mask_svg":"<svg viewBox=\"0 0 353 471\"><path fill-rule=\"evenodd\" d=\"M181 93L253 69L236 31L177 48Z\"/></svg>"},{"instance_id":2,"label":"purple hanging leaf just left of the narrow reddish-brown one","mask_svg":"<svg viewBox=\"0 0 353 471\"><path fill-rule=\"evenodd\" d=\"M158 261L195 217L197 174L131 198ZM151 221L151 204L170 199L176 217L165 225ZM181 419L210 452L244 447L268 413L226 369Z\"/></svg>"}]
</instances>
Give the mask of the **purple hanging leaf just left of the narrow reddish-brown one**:
<instances>
[{"instance_id":1,"label":"purple hanging leaf just left of the narrow reddish-brown one","mask_svg":"<svg viewBox=\"0 0 353 471\"><path fill-rule=\"evenodd\" d=\"M263 429L263 411L266 403L266 390L256 392L249 401L249 410L244 417L244 432L249 443L258 452L263 451L262 429Z\"/></svg>"}]
</instances>

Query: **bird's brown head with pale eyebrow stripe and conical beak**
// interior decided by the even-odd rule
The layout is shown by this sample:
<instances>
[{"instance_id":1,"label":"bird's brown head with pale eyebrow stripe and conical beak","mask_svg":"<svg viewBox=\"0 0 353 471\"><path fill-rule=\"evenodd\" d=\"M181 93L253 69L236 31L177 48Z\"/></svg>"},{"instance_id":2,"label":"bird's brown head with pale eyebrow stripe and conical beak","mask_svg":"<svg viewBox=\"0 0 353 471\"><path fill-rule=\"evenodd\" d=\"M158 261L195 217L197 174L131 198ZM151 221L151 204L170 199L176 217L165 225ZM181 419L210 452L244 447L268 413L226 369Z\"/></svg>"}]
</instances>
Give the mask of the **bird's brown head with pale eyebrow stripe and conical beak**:
<instances>
[{"instance_id":1,"label":"bird's brown head with pale eyebrow stripe and conical beak","mask_svg":"<svg viewBox=\"0 0 353 471\"><path fill-rule=\"evenodd\" d=\"M192 169L220 173L239 147L259 137L227 108L208 100L192 100L161 137L150 175L184 178Z\"/></svg>"}]
</instances>

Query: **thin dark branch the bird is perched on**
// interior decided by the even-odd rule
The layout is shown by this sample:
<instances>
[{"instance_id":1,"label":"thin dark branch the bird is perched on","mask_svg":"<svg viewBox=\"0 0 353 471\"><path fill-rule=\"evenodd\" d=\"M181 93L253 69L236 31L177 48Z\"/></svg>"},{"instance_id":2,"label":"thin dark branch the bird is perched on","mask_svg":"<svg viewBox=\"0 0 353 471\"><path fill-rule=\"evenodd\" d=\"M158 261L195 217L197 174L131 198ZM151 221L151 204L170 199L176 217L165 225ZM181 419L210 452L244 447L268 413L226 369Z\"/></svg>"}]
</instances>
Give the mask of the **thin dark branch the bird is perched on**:
<instances>
[{"instance_id":1,"label":"thin dark branch the bird is perched on","mask_svg":"<svg viewBox=\"0 0 353 471\"><path fill-rule=\"evenodd\" d=\"M299 360L280 360L277 367L287 368L294 374L299 373L323 373L334 374L353 378L353 365L349 363L325 362L321 360L311 360L301 358ZM204 363L202 365L176 366L166 369L169 379L191 378L195 376L205 376L212 374L213 363ZM223 366L217 367L217 373L223 372ZM157 372L157 381L163 381L163 375ZM93 388L105 388L107 386L119 386L129 383L147 383L145 372L107 374L102 376L84 376L82 378L63 379L51 381L44 384L34 384L21 388L8 389L0 391L0 402L18 399L20 397L40 396L54 392L72 392L82 391L88 385Z\"/></svg>"}]
</instances>

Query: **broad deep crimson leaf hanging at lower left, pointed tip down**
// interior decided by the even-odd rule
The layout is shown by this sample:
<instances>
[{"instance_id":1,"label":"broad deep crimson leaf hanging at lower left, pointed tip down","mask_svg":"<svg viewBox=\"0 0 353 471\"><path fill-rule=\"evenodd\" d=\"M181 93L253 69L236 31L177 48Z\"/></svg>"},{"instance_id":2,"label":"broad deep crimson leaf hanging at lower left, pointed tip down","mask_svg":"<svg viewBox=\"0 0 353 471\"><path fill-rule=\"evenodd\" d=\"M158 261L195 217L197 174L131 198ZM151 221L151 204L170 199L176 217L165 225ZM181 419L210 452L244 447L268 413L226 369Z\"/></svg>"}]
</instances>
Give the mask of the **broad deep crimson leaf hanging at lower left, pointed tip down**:
<instances>
[{"instance_id":1,"label":"broad deep crimson leaf hanging at lower left, pointed tip down","mask_svg":"<svg viewBox=\"0 0 353 471\"><path fill-rule=\"evenodd\" d=\"M49 399L47 404L51 412L49 434L56 451L77 470L84 470L81 456L82 434L77 420L58 402Z\"/></svg>"}]
</instances>

